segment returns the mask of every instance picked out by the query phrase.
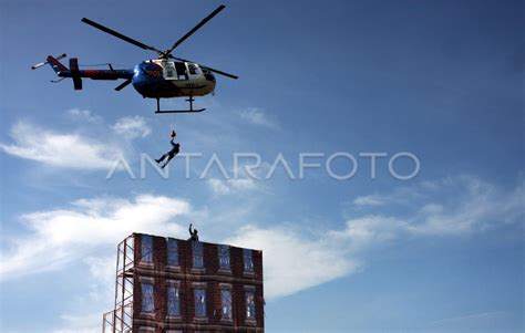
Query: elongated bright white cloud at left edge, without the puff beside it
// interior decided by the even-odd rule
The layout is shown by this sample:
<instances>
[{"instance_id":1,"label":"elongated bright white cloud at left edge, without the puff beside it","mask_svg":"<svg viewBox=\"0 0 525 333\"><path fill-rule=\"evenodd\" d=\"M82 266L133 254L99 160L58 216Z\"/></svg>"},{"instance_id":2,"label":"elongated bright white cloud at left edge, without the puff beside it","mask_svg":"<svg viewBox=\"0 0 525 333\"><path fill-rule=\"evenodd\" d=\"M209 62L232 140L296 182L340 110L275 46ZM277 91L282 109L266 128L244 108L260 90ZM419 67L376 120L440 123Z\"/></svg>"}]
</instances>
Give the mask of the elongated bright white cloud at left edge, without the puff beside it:
<instances>
[{"instance_id":1,"label":"elongated bright white cloud at left edge, without the puff beside it","mask_svg":"<svg viewBox=\"0 0 525 333\"><path fill-rule=\"evenodd\" d=\"M123 154L111 142L59 133L25 122L12 126L10 136L13 144L0 144L6 153L60 168L110 169Z\"/></svg>"}]
</instances>

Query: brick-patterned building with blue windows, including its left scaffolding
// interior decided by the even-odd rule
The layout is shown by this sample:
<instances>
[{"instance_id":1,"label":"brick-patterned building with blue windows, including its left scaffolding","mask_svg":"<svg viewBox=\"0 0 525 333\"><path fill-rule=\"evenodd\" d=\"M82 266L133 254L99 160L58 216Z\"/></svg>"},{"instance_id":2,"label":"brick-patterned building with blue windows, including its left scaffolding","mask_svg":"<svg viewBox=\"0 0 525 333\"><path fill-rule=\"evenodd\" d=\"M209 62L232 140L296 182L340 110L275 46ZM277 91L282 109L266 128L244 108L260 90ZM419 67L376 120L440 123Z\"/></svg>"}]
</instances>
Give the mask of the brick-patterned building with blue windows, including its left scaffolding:
<instances>
[{"instance_id":1,"label":"brick-patterned building with blue windows, including its left scaffolding","mask_svg":"<svg viewBox=\"0 0 525 333\"><path fill-rule=\"evenodd\" d=\"M103 332L264 332L261 251L142 233L126 240Z\"/></svg>"}]
</instances>

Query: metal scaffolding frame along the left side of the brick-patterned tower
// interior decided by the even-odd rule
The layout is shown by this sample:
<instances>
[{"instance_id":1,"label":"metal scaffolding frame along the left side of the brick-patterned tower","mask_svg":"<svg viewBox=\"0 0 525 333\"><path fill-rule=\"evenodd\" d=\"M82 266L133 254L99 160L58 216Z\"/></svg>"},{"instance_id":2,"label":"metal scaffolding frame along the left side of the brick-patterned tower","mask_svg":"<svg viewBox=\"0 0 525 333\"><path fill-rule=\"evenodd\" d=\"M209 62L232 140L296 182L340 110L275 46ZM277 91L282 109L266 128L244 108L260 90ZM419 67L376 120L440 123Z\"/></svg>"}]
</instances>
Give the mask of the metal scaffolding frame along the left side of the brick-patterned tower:
<instances>
[{"instance_id":1,"label":"metal scaffolding frame along the left side of the brick-patterned tower","mask_svg":"<svg viewBox=\"0 0 525 333\"><path fill-rule=\"evenodd\" d=\"M135 267L135 236L121 241L116 252L115 305L102 319L102 333L133 331L133 271Z\"/></svg>"}]
</instances>

